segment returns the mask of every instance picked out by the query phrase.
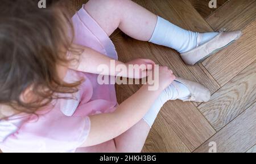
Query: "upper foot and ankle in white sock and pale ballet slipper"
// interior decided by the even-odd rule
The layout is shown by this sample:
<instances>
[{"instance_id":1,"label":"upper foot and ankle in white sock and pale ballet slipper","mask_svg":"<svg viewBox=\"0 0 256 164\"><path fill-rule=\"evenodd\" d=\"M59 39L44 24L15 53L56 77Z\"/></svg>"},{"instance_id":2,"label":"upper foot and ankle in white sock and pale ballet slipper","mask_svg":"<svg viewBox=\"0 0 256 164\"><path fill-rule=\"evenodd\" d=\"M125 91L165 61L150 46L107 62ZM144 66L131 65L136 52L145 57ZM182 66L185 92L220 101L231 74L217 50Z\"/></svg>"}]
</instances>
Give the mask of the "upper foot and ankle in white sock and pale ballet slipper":
<instances>
[{"instance_id":1,"label":"upper foot and ankle in white sock and pale ballet slipper","mask_svg":"<svg viewBox=\"0 0 256 164\"><path fill-rule=\"evenodd\" d=\"M158 16L150 42L177 50L186 64L194 65L232 44L241 35L241 31L192 32Z\"/></svg>"}]
</instances>

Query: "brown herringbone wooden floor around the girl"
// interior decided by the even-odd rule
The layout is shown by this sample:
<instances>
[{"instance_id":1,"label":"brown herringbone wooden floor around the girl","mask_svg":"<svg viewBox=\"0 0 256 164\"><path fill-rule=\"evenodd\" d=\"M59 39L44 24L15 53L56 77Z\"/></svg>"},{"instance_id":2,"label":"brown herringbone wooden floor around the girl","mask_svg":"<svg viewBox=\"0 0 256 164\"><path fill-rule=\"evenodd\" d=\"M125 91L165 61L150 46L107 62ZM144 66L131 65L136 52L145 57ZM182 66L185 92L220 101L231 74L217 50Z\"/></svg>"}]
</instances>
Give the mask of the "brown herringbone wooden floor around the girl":
<instances>
[{"instance_id":1,"label":"brown herringbone wooden floor around the girl","mask_svg":"<svg viewBox=\"0 0 256 164\"><path fill-rule=\"evenodd\" d=\"M119 60L150 58L176 76L209 88L207 103L169 101L160 111L143 152L256 152L256 0L134 0L182 28L198 32L240 29L243 36L196 66L186 66L169 48L134 40L120 31L112 35ZM86 0L77 0L77 6ZM139 89L118 85L118 102Z\"/></svg>"}]
</instances>

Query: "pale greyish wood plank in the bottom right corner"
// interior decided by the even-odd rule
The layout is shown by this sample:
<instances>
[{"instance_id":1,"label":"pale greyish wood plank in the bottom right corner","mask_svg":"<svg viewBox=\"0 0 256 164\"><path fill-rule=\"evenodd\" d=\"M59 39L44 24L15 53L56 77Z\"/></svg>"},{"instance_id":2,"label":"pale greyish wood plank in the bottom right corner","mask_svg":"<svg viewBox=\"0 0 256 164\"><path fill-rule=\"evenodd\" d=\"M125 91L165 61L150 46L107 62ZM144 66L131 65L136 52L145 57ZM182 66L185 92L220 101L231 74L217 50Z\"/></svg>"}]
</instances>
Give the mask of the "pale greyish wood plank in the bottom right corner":
<instances>
[{"instance_id":1,"label":"pale greyish wood plank in the bottom right corner","mask_svg":"<svg viewBox=\"0 0 256 164\"><path fill-rule=\"evenodd\" d=\"M256 143L256 103L241 115L210 137L195 152L208 152L208 144L216 142L217 152L246 152Z\"/></svg>"}]
</instances>

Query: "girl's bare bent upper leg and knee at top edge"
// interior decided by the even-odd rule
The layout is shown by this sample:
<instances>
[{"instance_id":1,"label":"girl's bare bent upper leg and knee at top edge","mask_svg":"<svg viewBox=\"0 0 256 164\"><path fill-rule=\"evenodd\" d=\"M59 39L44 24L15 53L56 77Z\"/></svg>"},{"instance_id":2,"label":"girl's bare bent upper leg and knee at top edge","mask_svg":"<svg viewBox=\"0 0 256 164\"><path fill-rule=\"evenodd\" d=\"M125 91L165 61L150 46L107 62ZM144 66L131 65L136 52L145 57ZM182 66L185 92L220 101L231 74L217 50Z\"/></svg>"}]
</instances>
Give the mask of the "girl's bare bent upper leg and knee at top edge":
<instances>
[{"instance_id":1,"label":"girl's bare bent upper leg and knee at top edge","mask_svg":"<svg viewBox=\"0 0 256 164\"><path fill-rule=\"evenodd\" d=\"M115 29L137 40L148 41L154 32L157 16L130 0L90 0L84 6L110 36Z\"/></svg>"}]
</instances>

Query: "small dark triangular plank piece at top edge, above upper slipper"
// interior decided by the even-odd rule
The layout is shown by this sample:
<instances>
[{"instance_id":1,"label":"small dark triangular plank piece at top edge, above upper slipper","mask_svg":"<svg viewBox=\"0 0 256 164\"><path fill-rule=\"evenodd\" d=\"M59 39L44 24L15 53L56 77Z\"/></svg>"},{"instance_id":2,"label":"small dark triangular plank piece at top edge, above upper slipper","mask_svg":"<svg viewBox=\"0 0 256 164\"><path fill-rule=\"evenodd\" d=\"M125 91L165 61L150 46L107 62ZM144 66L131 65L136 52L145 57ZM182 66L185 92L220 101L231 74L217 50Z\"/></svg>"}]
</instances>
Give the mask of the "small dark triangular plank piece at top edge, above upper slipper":
<instances>
[{"instance_id":1,"label":"small dark triangular plank piece at top edge, above upper slipper","mask_svg":"<svg viewBox=\"0 0 256 164\"><path fill-rule=\"evenodd\" d=\"M216 11L219 7L224 5L228 0L217 0L217 7L210 8L209 0L189 0L193 7L196 8L196 11L204 18L207 19L214 11Z\"/></svg>"}]
</instances>

